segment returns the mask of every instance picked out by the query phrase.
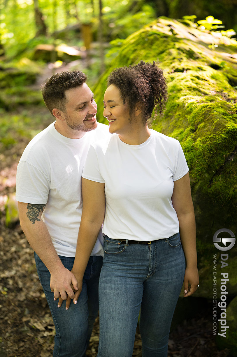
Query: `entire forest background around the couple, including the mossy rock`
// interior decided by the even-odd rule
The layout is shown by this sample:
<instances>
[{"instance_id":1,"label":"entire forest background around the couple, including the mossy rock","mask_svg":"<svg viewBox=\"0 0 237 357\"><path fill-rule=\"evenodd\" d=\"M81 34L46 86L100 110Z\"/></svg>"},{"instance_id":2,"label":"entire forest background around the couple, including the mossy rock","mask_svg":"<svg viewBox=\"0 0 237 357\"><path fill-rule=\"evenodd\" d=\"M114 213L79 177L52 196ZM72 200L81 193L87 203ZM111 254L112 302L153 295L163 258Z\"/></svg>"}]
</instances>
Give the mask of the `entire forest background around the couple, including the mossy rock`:
<instances>
[{"instance_id":1,"label":"entire forest background around the couple, including the mossy rock","mask_svg":"<svg viewBox=\"0 0 237 357\"><path fill-rule=\"evenodd\" d=\"M39 87L55 72L82 70L103 122L107 75L139 60L158 60L167 78L167 111L153 129L181 142L197 222L200 288L180 297L168 356L237 356L235 248L226 339L213 336L212 316L213 255L220 261L212 236L222 227L237 234L236 32L237 0L0 0L0 357L53 350L54 325L15 202L21 154L53 121ZM88 356L98 341L96 321ZM141 356L139 329L133 356Z\"/></svg>"}]
</instances>

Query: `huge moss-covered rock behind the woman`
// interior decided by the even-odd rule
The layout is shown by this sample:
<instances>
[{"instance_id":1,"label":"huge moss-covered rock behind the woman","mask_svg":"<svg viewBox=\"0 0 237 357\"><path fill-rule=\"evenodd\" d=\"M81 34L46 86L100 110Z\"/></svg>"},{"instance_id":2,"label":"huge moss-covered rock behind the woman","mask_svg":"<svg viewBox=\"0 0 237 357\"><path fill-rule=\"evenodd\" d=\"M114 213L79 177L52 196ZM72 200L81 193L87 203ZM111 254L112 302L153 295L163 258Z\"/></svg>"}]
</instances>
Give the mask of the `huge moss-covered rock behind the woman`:
<instances>
[{"instance_id":1,"label":"huge moss-covered rock behind the woman","mask_svg":"<svg viewBox=\"0 0 237 357\"><path fill-rule=\"evenodd\" d=\"M212 50L214 44L218 47ZM217 253L220 257L212 237L224 227L237 234L236 53L236 40L218 39L179 21L159 18L123 41L110 68L94 87L98 119L107 123L102 102L111 70L139 60L160 62L169 101L164 117L153 122L153 129L178 139L189 165L200 271L196 296L206 298L213 296L213 256ZM229 294L234 297L236 247L229 253L233 268Z\"/></svg>"}]
</instances>

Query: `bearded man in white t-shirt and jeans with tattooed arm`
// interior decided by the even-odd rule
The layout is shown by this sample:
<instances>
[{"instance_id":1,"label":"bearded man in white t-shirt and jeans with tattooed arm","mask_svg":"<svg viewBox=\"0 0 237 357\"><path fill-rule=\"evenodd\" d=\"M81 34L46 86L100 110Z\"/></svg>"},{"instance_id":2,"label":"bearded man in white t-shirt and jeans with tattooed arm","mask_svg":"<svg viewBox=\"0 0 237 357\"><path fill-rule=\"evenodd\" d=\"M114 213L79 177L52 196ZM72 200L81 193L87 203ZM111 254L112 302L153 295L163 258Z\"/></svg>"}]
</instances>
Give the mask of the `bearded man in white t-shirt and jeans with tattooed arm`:
<instances>
[{"instance_id":1,"label":"bearded man in white t-shirt and jeans with tattooed arm","mask_svg":"<svg viewBox=\"0 0 237 357\"><path fill-rule=\"evenodd\" d=\"M53 357L85 356L98 314L102 266L99 234L77 305L58 308L57 298L78 289L73 267L82 211L81 174L89 146L109 134L96 121L97 105L81 71L53 75L42 86L44 102L56 121L27 145L17 167L16 199L21 227L35 251L39 280L52 313ZM89 316L88 316L89 315Z\"/></svg>"}]
</instances>

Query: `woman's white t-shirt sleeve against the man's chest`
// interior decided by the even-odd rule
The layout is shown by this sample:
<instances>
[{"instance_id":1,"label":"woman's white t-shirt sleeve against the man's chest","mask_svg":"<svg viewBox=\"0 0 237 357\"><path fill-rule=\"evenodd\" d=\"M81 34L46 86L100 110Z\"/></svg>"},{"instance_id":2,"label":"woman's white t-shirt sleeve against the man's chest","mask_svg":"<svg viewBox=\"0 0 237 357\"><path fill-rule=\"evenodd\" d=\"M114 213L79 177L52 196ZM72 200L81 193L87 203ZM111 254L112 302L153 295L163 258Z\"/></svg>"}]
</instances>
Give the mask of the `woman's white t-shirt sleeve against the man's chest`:
<instances>
[{"instance_id":1,"label":"woman's white t-shirt sleeve against the man's chest","mask_svg":"<svg viewBox=\"0 0 237 357\"><path fill-rule=\"evenodd\" d=\"M90 146L86 157L82 177L91 181L105 183L104 178L101 176L98 155L92 145Z\"/></svg>"}]
</instances>

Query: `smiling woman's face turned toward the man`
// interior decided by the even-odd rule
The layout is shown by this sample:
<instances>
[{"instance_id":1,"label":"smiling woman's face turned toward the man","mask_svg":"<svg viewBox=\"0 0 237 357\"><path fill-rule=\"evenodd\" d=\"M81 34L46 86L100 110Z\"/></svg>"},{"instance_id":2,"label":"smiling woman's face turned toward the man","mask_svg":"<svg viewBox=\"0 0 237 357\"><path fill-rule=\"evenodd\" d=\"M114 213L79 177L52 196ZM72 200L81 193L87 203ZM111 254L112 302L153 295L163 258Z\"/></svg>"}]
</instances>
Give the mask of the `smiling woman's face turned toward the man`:
<instances>
[{"instance_id":1,"label":"smiling woman's face turned toward the man","mask_svg":"<svg viewBox=\"0 0 237 357\"><path fill-rule=\"evenodd\" d=\"M129 107L123 104L119 89L110 85L104 95L104 117L109 121L110 133L129 134L133 131L134 119L130 118Z\"/></svg>"}]
</instances>

